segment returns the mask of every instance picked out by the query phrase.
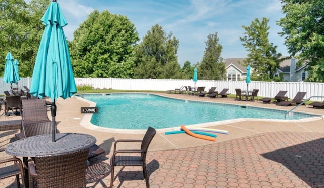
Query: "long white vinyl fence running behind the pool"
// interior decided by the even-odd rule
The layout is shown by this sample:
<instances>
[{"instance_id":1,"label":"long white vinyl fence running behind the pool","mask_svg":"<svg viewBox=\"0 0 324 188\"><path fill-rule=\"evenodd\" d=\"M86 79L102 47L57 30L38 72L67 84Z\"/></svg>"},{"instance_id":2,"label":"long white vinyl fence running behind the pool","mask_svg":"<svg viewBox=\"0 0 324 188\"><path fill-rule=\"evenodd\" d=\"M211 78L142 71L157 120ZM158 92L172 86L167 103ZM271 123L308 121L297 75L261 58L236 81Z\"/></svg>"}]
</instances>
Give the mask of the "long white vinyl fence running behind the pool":
<instances>
[{"instance_id":1,"label":"long white vinyl fence running behind the pool","mask_svg":"<svg viewBox=\"0 0 324 188\"><path fill-rule=\"evenodd\" d=\"M1 78L3 80L3 78ZM176 80L176 79L118 79L118 78L75 78L77 86L91 85L94 89L120 89L120 90L152 90L167 91L181 86L194 86L192 80ZM27 86L30 88L31 78L21 78L18 87ZM205 91L211 87L217 87L217 91L223 88L229 88L229 93L235 94L235 89L240 88L247 90L245 81L214 81L214 80L198 80L196 87L205 86ZM13 87L17 87L13 84ZM294 98L298 91L307 92L304 99L311 96L324 96L324 83L312 82L259 82L252 81L248 90L259 89L258 96L274 97L280 90L287 90L287 95ZM0 93L10 90L10 84L0 82ZM324 98L315 97L311 100L323 101Z\"/></svg>"}]
</instances>

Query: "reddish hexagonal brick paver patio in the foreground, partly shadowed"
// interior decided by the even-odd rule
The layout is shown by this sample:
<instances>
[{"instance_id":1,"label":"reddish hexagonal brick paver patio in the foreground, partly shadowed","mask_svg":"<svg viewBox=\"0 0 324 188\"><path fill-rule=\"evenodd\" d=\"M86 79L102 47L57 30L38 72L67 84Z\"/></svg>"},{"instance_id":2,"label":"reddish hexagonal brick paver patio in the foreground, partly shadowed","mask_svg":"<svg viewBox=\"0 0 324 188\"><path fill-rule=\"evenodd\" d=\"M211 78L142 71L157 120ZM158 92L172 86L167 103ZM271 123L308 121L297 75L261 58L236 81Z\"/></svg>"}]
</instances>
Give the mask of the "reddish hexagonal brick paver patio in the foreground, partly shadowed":
<instances>
[{"instance_id":1,"label":"reddish hexagonal brick paver patio in the foreground, partly shadowed","mask_svg":"<svg viewBox=\"0 0 324 188\"><path fill-rule=\"evenodd\" d=\"M147 169L151 187L324 187L323 145L320 133L261 133L149 152ZM115 170L117 174L120 168ZM109 185L110 172L101 177L87 185ZM114 186L145 187L142 177L141 167L126 167L115 177Z\"/></svg>"}]
</instances>

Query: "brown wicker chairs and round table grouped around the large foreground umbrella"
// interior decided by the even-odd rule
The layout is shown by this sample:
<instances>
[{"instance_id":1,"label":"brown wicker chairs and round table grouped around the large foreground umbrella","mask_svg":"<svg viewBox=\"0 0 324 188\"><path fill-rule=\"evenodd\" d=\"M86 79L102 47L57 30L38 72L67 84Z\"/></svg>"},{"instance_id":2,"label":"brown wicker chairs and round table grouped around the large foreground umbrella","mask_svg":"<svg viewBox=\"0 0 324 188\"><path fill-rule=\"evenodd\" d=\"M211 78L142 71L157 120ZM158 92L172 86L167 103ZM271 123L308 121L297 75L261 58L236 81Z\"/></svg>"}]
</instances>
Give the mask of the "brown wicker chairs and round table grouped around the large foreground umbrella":
<instances>
[{"instance_id":1,"label":"brown wicker chairs and round table grouped around the large foreground umbrella","mask_svg":"<svg viewBox=\"0 0 324 188\"><path fill-rule=\"evenodd\" d=\"M48 119L45 99L22 100L21 120L0 121L0 130L20 129L15 134L19 139L9 143L5 152L13 157L0 160L0 179L16 176L20 187L19 175L23 187L85 187L87 160L105 151L96 145L96 138L88 134L59 133L56 141L52 138L52 122ZM154 128L149 127L143 140L117 140L111 158L111 187L113 185L114 166L142 166L146 184L149 186L146 172L146 153L155 136ZM116 149L118 142L141 142L139 149ZM125 157L125 153L137 156ZM17 157L22 157L20 160Z\"/></svg>"}]
</instances>

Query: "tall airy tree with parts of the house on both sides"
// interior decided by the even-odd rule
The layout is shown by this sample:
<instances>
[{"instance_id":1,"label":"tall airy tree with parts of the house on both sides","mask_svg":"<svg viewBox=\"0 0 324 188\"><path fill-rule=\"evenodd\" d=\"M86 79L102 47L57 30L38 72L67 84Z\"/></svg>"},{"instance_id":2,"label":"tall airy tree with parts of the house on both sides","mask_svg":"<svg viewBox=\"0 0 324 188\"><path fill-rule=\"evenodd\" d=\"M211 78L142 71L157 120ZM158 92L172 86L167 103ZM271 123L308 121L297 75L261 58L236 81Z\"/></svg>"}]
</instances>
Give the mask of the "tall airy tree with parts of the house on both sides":
<instances>
[{"instance_id":1,"label":"tall airy tree with parts of the house on both sides","mask_svg":"<svg viewBox=\"0 0 324 188\"><path fill-rule=\"evenodd\" d=\"M253 72L251 74L252 80L258 81L274 81L277 69L280 62L284 61L281 53L277 53L273 43L269 42L268 26L269 19L256 18L251 22L250 26L242 26L244 28L244 36L239 37L242 45L247 49L248 57L244 60L244 65L250 64Z\"/></svg>"}]
</instances>

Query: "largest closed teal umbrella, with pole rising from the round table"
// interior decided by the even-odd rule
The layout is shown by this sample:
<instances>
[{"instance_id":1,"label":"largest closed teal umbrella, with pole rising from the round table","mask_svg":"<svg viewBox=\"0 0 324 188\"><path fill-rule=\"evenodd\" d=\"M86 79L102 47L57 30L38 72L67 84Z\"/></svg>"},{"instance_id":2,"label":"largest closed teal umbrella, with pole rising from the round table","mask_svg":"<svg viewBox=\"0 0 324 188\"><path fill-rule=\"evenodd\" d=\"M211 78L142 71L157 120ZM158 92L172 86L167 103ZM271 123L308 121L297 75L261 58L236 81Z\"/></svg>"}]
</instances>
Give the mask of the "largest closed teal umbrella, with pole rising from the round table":
<instances>
[{"instance_id":1,"label":"largest closed teal umbrella, with pole rising from the round table","mask_svg":"<svg viewBox=\"0 0 324 188\"><path fill-rule=\"evenodd\" d=\"M55 142L56 105L58 97L66 99L77 92L71 58L63 27L67 25L56 1L50 3L41 21L45 25L32 73L30 94L52 99L52 141Z\"/></svg>"}]
</instances>

